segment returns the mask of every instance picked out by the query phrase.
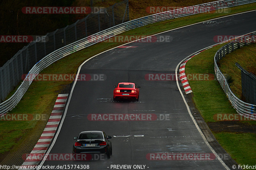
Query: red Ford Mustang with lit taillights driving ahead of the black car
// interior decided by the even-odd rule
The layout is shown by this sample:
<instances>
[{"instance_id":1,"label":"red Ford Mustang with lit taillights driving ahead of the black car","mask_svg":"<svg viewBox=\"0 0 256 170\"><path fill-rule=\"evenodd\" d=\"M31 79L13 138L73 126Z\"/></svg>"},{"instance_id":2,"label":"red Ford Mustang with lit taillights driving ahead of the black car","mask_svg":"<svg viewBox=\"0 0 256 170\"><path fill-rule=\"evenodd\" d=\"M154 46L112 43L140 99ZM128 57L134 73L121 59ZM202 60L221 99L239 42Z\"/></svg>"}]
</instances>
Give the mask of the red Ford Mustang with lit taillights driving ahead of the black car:
<instances>
[{"instance_id":1,"label":"red Ford Mustang with lit taillights driving ahead of the black car","mask_svg":"<svg viewBox=\"0 0 256 170\"><path fill-rule=\"evenodd\" d=\"M140 96L140 86L137 86L135 83L118 83L114 90L113 99L116 101L117 99L135 99L139 101Z\"/></svg>"}]
</instances>

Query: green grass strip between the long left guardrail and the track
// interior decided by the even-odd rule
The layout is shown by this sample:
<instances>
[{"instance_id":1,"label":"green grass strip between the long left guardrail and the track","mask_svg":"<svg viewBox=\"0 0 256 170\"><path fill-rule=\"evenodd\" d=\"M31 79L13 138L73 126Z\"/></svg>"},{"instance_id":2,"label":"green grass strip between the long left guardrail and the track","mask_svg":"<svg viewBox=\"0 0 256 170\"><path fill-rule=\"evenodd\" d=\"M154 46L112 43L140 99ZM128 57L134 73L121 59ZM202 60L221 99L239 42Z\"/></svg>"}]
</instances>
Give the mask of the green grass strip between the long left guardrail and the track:
<instances>
[{"instance_id":1,"label":"green grass strip between the long left guardrail and the track","mask_svg":"<svg viewBox=\"0 0 256 170\"><path fill-rule=\"evenodd\" d=\"M225 15L239 13L243 11L254 10L255 4L243 5L233 7L229 9L229 13L203 13L193 16L176 18L166 20L163 22L157 22L154 24L146 25L140 28L136 28L122 35L152 35L159 32L171 30L185 25L202 22L208 19L218 18ZM117 43L98 43L90 46L84 50L72 53L67 57L56 61L51 66L45 68L41 74L74 74L80 64L89 57L105 51L109 48L123 44L123 42ZM30 85L26 94L22 97L18 105L10 112L14 114L45 114L50 115L54 105L54 101L58 93L68 85L69 81L34 81ZM9 98L12 93L9 94ZM224 107L224 106L223 106ZM50 108L50 109L49 109ZM0 153L15 152L19 149L19 146L26 142L26 139L31 136L29 133L36 127L37 121L0 121ZM46 122L45 122L46 124ZM41 131L43 131L42 126ZM39 138L40 136L37 136ZM34 136L36 138L36 136ZM15 141L15 142L13 142ZM15 146L15 147L14 147Z\"/></svg>"}]
</instances>

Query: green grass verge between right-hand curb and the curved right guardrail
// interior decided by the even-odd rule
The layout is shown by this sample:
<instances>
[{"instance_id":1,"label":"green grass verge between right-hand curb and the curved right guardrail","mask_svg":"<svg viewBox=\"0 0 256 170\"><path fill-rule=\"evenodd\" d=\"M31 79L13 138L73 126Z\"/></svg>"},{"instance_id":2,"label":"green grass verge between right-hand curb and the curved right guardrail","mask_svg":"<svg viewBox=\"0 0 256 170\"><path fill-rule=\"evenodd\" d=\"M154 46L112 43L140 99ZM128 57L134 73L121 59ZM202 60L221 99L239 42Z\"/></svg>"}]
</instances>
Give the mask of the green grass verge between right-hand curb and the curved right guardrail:
<instances>
[{"instance_id":1,"label":"green grass verge between right-hand curb and the curved right guardrail","mask_svg":"<svg viewBox=\"0 0 256 170\"><path fill-rule=\"evenodd\" d=\"M214 75L213 57L218 49L223 45L224 44L212 47L190 59L186 64L186 74L199 73ZM232 53L230 53L230 55L232 55ZM228 55L226 59L229 59ZM246 58L244 58L244 60L246 60ZM242 63L244 60L240 60L240 62ZM232 63L232 61L229 63ZM193 101L195 106L203 116L206 123L216 122L213 118L215 114L236 114L236 110L232 107L216 79L209 81L189 81L189 84L194 93ZM235 122L237 123L237 121ZM225 121L221 123L223 123L223 127L227 127L225 126ZM255 125L256 121L239 121L237 124L243 127L244 125ZM213 134L220 145L234 160L236 160L238 164L255 164L255 133L228 133L225 132L224 129L223 132L218 133L213 131Z\"/></svg>"}]
</instances>

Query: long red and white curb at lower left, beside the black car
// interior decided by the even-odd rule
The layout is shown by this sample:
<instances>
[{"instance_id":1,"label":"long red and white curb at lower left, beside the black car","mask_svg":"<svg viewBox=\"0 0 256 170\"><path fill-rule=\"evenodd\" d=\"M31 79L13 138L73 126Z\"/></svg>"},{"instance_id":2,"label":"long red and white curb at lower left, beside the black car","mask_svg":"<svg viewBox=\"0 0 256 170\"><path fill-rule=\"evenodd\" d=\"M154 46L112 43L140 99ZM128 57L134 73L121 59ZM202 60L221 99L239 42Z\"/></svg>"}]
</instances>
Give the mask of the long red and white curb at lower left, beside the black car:
<instances>
[{"instance_id":1,"label":"long red and white curb at lower left, beside the black car","mask_svg":"<svg viewBox=\"0 0 256 170\"><path fill-rule=\"evenodd\" d=\"M23 167L37 166L40 162L38 158L43 158L43 155L46 152L48 146L50 145L55 131L57 130L57 127L60 123L61 115L64 111L67 98L68 94L58 95L48 123L46 124L44 131L39 140L37 141L34 149L30 152L30 155L28 155L26 160L23 162Z\"/></svg>"}]
</instances>

